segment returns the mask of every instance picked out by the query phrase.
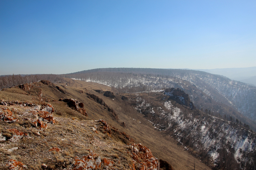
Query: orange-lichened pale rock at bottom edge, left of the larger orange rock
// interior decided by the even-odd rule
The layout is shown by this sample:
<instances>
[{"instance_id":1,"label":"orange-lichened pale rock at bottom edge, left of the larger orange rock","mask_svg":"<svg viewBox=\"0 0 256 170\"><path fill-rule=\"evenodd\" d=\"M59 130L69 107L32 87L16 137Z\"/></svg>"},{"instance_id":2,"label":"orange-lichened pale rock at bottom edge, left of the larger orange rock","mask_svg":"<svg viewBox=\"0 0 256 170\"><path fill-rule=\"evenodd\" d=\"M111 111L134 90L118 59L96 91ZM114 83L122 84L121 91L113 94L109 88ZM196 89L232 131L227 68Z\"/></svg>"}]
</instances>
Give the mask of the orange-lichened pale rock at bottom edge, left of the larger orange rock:
<instances>
[{"instance_id":1,"label":"orange-lichened pale rock at bottom edge, left of the larger orange rock","mask_svg":"<svg viewBox=\"0 0 256 170\"><path fill-rule=\"evenodd\" d=\"M101 159L90 150L90 154L82 159L75 158L73 170L97 170L101 169Z\"/></svg>"}]
</instances>

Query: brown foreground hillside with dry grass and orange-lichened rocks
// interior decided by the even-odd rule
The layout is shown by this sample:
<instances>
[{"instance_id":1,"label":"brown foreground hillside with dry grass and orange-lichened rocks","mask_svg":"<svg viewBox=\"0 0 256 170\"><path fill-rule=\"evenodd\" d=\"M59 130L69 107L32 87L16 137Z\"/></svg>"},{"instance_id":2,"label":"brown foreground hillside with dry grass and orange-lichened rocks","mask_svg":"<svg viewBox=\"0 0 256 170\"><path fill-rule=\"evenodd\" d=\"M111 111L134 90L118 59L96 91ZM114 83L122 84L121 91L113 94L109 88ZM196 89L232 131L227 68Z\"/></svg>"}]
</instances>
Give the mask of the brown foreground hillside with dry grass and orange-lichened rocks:
<instances>
[{"instance_id":1,"label":"brown foreground hillside with dry grass and orange-lichened rocks","mask_svg":"<svg viewBox=\"0 0 256 170\"><path fill-rule=\"evenodd\" d=\"M71 79L66 79L66 84L41 81L1 90L3 112L8 109L12 117L19 120L5 122L8 116L1 113L4 115L0 143L2 169L14 165L13 160L28 169L45 166L46 169L78 169L86 166L82 163L86 161L92 161L95 167L100 165L100 169L140 169L146 165L192 169L194 157L177 145L177 140L159 133L144 115L138 113L132 107L131 96L107 97L101 90L105 92L111 88ZM49 108L54 108L54 112ZM52 112L56 122L43 119L38 114L41 112ZM12 142L13 129L26 135ZM144 146L150 148L154 156ZM154 164L154 157L164 161ZM148 159L151 162L146 162ZM195 165L198 169L209 169L197 158Z\"/></svg>"}]
</instances>

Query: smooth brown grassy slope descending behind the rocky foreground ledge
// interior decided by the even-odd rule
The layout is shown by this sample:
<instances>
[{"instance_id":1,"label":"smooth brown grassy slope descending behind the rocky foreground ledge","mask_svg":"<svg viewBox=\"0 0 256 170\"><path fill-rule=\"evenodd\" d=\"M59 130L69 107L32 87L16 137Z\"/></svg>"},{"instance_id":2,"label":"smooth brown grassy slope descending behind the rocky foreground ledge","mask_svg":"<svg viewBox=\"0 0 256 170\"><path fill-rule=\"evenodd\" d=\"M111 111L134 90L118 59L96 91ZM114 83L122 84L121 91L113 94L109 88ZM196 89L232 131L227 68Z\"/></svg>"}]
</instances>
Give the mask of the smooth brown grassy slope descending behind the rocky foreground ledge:
<instances>
[{"instance_id":1,"label":"smooth brown grassy slope descending behind the rocky foreground ledge","mask_svg":"<svg viewBox=\"0 0 256 170\"><path fill-rule=\"evenodd\" d=\"M182 146L177 145L178 142L171 138L171 136L165 136L161 132L155 130L152 124L145 120L144 115L138 113L136 109L131 107L129 101L122 100L122 96L120 95L117 95L113 100L112 98L105 97L103 94L94 91L94 89L102 89L103 91L111 90L110 87L92 82L70 80L67 78L66 81L71 81L71 83L67 83L66 86L68 88L66 89L67 94L59 92L56 88L49 88L47 85L41 85L41 87L34 87L30 90L31 96L19 88L5 89L5 91L2 90L0 91L0 99L40 101L40 97L38 97L37 94L37 88L40 88L42 89L42 98L44 101L48 101L47 103L51 103L55 108L56 112L54 113L59 113L64 117L78 117L80 119L86 119L86 117L66 107L64 102L58 101L59 98L77 99L79 102L84 103L84 108L86 109L90 119L106 120L109 124L118 128L120 131L126 132L136 140L136 142L149 147L155 157L168 161L175 170L193 169L194 157L187 151L184 151ZM61 88L64 89L63 87ZM83 93L79 93L79 90L82 90ZM119 120L115 120L105 107L93 100L90 100L87 97L86 92L95 94L96 96L99 96L99 98L102 98L109 107L113 108L115 112L118 113ZM122 122L125 122L126 127L121 126ZM198 159L195 159L195 164L196 169L209 169L209 167L201 163Z\"/></svg>"}]
</instances>

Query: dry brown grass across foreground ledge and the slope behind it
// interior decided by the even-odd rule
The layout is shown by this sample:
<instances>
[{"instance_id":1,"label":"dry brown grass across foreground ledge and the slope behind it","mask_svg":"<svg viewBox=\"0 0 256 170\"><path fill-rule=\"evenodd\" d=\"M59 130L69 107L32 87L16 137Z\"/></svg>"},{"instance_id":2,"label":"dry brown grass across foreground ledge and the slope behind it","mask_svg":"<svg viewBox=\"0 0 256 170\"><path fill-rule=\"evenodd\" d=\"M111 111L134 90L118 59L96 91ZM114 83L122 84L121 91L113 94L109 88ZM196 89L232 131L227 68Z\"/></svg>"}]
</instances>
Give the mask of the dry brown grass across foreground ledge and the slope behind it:
<instances>
[{"instance_id":1,"label":"dry brown grass across foreground ledge and the slope behind it","mask_svg":"<svg viewBox=\"0 0 256 170\"><path fill-rule=\"evenodd\" d=\"M70 79L65 78L65 80L68 82ZM19 161L31 166L28 166L29 169L41 169L41 163L46 163L50 168L56 169L62 166L61 161L71 164L73 162L71 158L75 156L82 157L89 153L88 149L91 149L97 154L104 154L105 157L112 158L115 161L119 160L122 162L123 160L131 163L131 158L125 152L126 149L123 147L124 144L122 140L116 136L110 136L100 132L96 133L92 130L91 127L94 126L94 121L91 122L89 119L103 119L120 131L126 132L136 140L136 143L142 143L142 145L149 147L154 156L168 161L175 170L192 169L192 165L190 163L190 165L188 165L188 160L193 160L194 158L189 152L184 151L182 146L177 146L177 141L170 136L163 132L156 131L152 124L145 120L144 115L137 113L136 109L131 106L130 101L122 100L121 95L116 95L113 100L112 98L105 97L103 94L94 91L95 89L102 89L103 91L111 90L108 86L77 80L70 81L72 83L67 86L67 94L63 94L57 89L49 88L40 83L40 89L42 89L43 93L42 97L49 100L49 103L55 108L55 112L53 113L57 123L49 125L48 129L40 131L41 136L35 135L36 131L31 131L29 134L34 137L34 140L23 138L16 143L16 146L20 148L18 151L13 153L5 153L6 151L3 151L5 157L0 155L2 162L7 161L8 156L14 157L18 154L20 155L20 158L18 158ZM60 85L66 84L59 84L58 86ZM78 90L83 90L83 93L79 93ZM107 109L99 103L90 100L86 96L86 92L102 98L108 106L115 110L119 120L114 120ZM31 96L29 96L24 90L11 88L10 90L6 89L5 91L0 91L0 99L40 103L40 98L33 96L33 94L36 93L38 93L38 89L31 90ZM127 95L127 97L131 97L131 95ZM135 95L133 95L133 97L135 97ZM147 96L147 100L151 100L154 97L155 96ZM88 117L67 107L66 103L58 101L59 98L75 98L79 100L79 102L84 103ZM157 104L158 101L154 100L153 102ZM122 122L125 122L126 127L121 126ZM20 124L21 123L7 124L7 126L8 128L15 126L30 132L30 126L23 127L23 125ZM0 130L3 130L2 125L0 126ZM97 142L101 140L104 141L104 145L109 147L99 147ZM52 147L58 147L63 151L50 152L49 149ZM41 154L38 155L37 151L40 151ZM50 159L51 157L53 157L53 159ZM34 159L37 161L33 161ZM195 161L197 169L209 169L199 160L196 159ZM120 165L119 169L123 167L124 166Z\"/></svg>"}]
</instances>

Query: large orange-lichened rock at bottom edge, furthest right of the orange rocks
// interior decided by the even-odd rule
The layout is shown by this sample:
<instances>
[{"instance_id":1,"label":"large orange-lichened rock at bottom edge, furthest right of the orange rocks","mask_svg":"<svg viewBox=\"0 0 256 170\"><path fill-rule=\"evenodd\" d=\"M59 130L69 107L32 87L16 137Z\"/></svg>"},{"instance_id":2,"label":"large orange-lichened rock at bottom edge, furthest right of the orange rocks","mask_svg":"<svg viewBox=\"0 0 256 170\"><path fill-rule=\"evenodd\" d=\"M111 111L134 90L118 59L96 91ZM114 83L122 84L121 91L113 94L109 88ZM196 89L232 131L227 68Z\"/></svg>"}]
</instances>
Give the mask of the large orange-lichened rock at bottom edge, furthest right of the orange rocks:
<instances>
[{"instance_id":1,"label":"large orange-lichened rock at bottom edge, furthest right of the orange rocks","mask_svg":"<svg viewBox=\"0 0 256 170\"><path fill-rule=\"evenodd\" d=\"M131 144L130 154L136 161L138 170L159 170L157 158L153 157L151 150L139 144ZM134 169L135 170L135 169Z\"/></svg>"}]
</instances>

